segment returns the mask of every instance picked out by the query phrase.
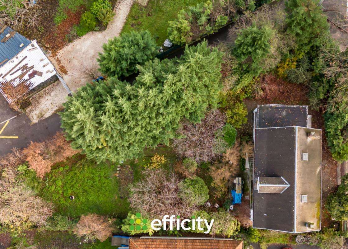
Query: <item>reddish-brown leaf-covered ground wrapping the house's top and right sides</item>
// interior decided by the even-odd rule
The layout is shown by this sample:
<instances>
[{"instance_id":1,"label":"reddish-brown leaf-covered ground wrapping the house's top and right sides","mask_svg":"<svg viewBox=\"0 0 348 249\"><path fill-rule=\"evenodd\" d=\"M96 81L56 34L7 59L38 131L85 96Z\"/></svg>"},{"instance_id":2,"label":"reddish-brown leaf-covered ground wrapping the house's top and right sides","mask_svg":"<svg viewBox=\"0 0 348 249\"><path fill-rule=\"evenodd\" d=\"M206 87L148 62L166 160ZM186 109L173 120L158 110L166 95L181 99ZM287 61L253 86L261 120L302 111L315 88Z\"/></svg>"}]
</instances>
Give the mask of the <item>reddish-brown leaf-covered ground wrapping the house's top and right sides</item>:
<instances>
[{"instance_id":1,"label":"reddish-brown leaf-covered ground wrapping the house's top and right sides","mask_svg":"<svg viewBox=\"0 0 348 249\"><path fill-rule=\"evenodd\" d=\"M308 89L299 84L289 83L279 79L275 75L265 75L260 79L260 93L254 99L246 99L244 102L248 109L248 124L243 127L242 132L252 133L253 110L258 104L288 104L308 105ZM312 115L312 127L321 129L322 138L322 227L330 227L332 220L325 209L327 196L334 192L337 187L337 163L332 158L327 147L323 110L309 108Z\"/></svg>"}]
</instances>

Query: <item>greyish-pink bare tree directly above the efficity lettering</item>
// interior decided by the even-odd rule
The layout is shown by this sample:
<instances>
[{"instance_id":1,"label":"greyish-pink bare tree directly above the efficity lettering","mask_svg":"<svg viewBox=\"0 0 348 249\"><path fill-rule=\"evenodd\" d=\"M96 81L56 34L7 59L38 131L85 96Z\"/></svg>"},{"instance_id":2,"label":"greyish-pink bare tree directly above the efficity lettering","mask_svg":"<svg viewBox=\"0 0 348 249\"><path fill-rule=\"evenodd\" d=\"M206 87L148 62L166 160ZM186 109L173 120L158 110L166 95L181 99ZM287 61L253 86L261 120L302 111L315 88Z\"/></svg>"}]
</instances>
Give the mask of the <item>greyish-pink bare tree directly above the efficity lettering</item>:
<instances>
[{"instance_id":1,"label":"greyish-pink bare tree directly above the efficity lettering","mask_svg":"<svg viewBox=\"0 0 348 249\"><path fill-rule=\"evenodd\" d=\"M164 170L146 170L143 180L130 187L129 202L133 209L149 217L175 214L189 217L194 211L179 197L179 179ZM168 213L169 212L169 213Z\"/></svg>"}]
</instances>

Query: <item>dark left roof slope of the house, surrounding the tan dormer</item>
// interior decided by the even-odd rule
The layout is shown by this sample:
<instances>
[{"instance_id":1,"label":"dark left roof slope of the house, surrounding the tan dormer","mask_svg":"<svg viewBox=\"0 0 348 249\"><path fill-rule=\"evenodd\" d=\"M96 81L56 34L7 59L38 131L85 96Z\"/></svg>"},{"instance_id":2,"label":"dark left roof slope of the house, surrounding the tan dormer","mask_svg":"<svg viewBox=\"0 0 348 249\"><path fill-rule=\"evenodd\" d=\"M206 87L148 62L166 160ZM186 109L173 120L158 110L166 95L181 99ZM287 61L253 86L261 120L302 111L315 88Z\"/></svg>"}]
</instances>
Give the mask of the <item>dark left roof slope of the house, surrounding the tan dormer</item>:
<instances>
[{"instance_id":1,"label":"dark left roof slope of the house, surrounding the tan dormer","mask_svg":"<svg viewBox=\"0 0 348 249\"><path fill-rule=\"evenodd\" d=\"M255 129L254 179L283 177L282 194L253 194L253 227L294 232L295 127Z\"/></svg>"}]
</instances>

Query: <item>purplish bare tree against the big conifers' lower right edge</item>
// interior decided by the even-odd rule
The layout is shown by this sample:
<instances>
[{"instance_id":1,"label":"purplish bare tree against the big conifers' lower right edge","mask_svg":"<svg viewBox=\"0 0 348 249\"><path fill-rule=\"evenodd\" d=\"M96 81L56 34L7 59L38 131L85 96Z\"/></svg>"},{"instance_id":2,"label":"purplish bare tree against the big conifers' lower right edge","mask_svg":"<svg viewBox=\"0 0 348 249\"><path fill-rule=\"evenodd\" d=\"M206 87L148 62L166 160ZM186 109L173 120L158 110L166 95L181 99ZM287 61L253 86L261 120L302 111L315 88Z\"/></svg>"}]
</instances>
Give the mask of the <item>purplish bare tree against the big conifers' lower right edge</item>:
<instances>
[{"instance_id":1,"label":"purplish bare tree against the big conifers' lower right edge","mask_svg":"<svg viewBox=\"0 0 348 249\"><path fill-rule=\"evenodd\" d=\"M227 143L222 139L226 116L219 110L208 112L201 123L182 123L178 133L182 138L173 140L173 148L181 157L197 163L213 161L220 157Z\"/></svg>"}]
</instances>

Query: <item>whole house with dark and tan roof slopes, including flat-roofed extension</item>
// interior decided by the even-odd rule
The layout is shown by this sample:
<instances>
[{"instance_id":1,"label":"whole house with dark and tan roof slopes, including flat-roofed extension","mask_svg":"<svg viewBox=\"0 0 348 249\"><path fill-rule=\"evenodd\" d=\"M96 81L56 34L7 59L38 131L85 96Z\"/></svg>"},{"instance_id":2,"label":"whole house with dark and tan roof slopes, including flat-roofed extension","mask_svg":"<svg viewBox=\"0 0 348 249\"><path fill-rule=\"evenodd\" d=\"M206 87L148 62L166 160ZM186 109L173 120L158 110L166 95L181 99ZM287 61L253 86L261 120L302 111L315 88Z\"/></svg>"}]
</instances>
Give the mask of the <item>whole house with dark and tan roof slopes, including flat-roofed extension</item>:
<instances>
[{"instance_id":1,"label":"whole house with dark and tan roof slopes, including flat-roofed extension","mask_svg":"<svg viewBox=\"0 0 348 249\"><path fill-rule=\"evenodd\" d=\"M322 131L307 106L254 110L253 227L289 233L321 229Z\"/></svg>"}]
</instances>

